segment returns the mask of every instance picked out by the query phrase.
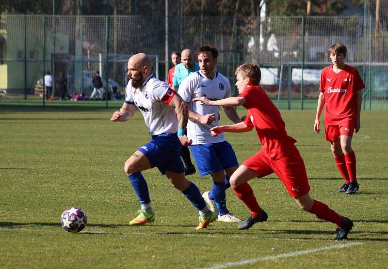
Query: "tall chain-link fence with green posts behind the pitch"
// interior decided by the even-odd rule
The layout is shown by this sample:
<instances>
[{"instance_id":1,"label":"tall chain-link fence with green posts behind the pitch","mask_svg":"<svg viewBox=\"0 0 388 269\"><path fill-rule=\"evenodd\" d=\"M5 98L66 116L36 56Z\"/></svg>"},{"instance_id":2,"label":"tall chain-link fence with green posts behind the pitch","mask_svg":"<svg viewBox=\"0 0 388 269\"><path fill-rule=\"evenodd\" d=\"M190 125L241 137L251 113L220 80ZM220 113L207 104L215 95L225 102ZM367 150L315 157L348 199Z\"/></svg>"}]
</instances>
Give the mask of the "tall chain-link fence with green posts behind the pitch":
<instances>
[{"instance_id":1,"label":"tall chain-link fence with green posts behind the pitch","mask_svg":"<svg viewBox=\"0 0 388 269\"><path fill-rule=\"evenodd\" d=\"M388 5L381 8L387 16ZM171 53L210 44L219 50L218 71L231 84L238 65L256 62L279 108L315 108L320 71L330 64L327 49L340 42L348 48L346 63L366 85L364 108L388 109L387 17L377 23L375 9L369 4L364 16L342 17L175 16L167 24L164 16L1 16L0 89L20 98L42 95L39 82L50 70L54 81L60 73L67 77L66 97L89 97L100 70L104 85L113 79L123 94L130 55L152 55L154 73L165 80L166 45ZM57 83L54 96L61 96Z\"/></svg>"}]
</instances>

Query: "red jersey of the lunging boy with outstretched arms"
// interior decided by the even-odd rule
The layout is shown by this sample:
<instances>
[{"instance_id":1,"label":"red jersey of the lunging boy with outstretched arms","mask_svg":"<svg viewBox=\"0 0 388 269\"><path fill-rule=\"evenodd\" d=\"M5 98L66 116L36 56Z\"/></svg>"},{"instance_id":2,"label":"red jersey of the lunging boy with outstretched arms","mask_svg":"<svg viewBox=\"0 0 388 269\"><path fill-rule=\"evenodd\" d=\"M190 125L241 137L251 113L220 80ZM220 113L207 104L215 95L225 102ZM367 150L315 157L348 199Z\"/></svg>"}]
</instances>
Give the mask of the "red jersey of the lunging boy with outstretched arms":
<instances>
[{"instance_id":1,"label":"red jersey of the lunging boy with outstretched arms","mask_svg":"<svg viewBox=\"0 0 388 269\"><path fill-rule=\"evenodd\" d=\"M287 135L279 110L259 86L248 87L239 96L245 98L242 106L248 109L244 122L255 127L261 150L272 159L282 157L296 140Z\"/></svg>"}]
</instances>

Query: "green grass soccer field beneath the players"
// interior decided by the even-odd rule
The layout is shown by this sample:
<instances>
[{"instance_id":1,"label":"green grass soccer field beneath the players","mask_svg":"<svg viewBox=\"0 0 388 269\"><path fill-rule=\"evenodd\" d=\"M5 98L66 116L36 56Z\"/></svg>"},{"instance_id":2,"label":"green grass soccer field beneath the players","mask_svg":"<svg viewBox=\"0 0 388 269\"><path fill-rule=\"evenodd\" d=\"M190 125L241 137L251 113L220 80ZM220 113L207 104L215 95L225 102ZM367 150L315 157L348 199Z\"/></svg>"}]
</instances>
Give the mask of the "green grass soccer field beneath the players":
<instances>
[{"instance_id":1,"label":"green grass soccer field beneath the players","mask_svg":"<svg viewBox=\"0 0 388 269\"><path fill-rule=\"evenodd\" d=\"M388 111L363 111L355 134L360 190L342 185L330 147L315 134L315 112L281 111L310 178L311 196L355 222L347 241L333 241L335 225L300 210L275 175L250 181L268 221L240 231L212 223L195 231L198 213L154 168L143 172L156 212L154 224L129 227L140 208L123 171L148 142L137 111L128 122L109 119L121 103L89 107L58 102L44 110L0 102L0 268L386 268L388 258ZM95 104L95 105L93 105ZM239 114L245 110L239 109ZM224 116L222 119L226 124ZM255 132L226 134L239 162L259 150ZM201 192L210 178L188 176ZM249 211L233 191L228 208ZM70 206L84 209L86 228L65 232Z\"/></svg>"}]
</instances>

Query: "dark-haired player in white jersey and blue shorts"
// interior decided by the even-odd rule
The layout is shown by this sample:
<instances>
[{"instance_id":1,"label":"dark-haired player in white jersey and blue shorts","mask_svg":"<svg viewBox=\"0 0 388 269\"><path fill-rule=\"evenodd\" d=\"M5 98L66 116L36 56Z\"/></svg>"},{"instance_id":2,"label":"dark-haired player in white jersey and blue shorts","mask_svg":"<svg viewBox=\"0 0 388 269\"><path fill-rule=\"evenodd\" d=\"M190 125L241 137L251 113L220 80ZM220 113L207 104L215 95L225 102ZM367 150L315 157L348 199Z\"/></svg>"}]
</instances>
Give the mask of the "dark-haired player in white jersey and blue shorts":
<instances>
[{"instance_id":1,"label":"dark-haired player in white jersey and blue shorts","mask_svg":"<svg viewBox=\"0 0 388 269\"><path fill-rule=\"evenodd\" d=\"M231 96L228 79L215 71L218 51L210 45L199 47L195 53L198 56L200 70L185 78L179 85L178 93L189 103L187 136L193 140L190 147L195 164L201 177L210 175L213 186L202 196L209 204L210 210L218 212L218 221L238 222L226 208L225 190L230 187L229 178L238 167L236 154L224 136L211 136L210 129L218 126L220 119L219 106L207 106L201 102L193 102L193 98L206 96L210 100L219 100ZM235 123L241 122L233 107L223 107L226 116ZM202 124L199 118L203 115L213 115L210 124Z\"/></svg>"}]
</instances>

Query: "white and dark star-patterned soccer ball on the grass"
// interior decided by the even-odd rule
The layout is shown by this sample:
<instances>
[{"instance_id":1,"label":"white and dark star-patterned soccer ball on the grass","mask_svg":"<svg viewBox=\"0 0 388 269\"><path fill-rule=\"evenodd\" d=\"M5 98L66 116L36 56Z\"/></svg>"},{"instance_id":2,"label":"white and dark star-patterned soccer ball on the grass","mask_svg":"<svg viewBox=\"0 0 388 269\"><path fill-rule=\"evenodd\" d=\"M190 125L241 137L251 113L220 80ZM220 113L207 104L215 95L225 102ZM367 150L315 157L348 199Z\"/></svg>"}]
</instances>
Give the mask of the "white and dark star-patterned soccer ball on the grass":
<instances>
[{"instance_id":1,"label":"white and dark star-patterned soccer ball on the grass","mask_svg":"<svg viewBox=\"0 0 388 269\"><path fill-rule=\"evenodd\" d=\"M78 233L85 228L87 217L85 211L77 207L66 209L60 218L62 227L70 233Z\"/></svg>"}]
</instances>

